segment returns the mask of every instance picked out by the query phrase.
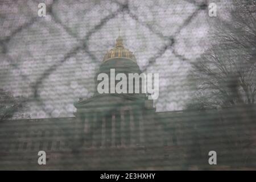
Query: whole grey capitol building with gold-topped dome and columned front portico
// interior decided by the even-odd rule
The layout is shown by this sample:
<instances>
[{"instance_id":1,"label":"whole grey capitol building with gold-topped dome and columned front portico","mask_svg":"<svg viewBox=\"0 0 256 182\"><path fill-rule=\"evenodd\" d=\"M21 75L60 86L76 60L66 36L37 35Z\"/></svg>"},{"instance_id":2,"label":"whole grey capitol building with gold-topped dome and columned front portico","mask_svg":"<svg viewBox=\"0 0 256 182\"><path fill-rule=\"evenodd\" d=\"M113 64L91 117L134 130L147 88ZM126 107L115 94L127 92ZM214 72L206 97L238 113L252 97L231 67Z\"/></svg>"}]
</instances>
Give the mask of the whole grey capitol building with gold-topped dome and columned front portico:
<instances>
[{"instance_id":1,"label":"whole grey capitol building with gold-topped dome and columned front portico","mask_svg":"<svg viewBox=\"0 0 256 182\"><path fill-rule=\"evenodd\" d=\"M119 36L100 73L142 71ZM16 119L0 126L0 169L176 170L220 169L229 163L223 119L217 110L156 112L145 93L98 93L77 98L74 117ZM208 121L202 121L207 115ZM214 121L216 128L208 129ZM215 126L214 125L214 126ZM221 137L220 137L221 136ZM216 139L220 137L221 139ZM217 142L216 142L217 140ZM208 152L217 151L210 166ZM45 151L46 165L38 164ZM219 167L219 168L218 168Z\"/></svg>"}]
</instances>

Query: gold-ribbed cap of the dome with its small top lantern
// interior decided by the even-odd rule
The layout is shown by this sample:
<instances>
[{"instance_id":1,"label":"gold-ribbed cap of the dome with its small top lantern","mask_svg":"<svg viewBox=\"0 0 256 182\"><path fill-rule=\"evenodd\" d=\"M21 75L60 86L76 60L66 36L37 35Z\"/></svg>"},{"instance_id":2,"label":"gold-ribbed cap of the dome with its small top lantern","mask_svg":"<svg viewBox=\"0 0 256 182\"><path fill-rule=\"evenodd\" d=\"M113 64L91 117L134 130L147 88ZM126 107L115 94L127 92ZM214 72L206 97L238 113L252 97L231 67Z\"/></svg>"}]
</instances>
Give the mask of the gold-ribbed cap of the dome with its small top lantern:
<instances>
[{"instance_id":1,"label":"gold-ribbed cap of the dome with its small top lantern","mask_svg":"<svg viewBox=\"0 0 256 182\"><path fill-rule=\"evenodd\" d=\"M121 36L118 36L115 47L113 49L110 49L110 51L105 54L103 61L107 61L116 57L124 57L126 59L130 59L136 62L133 52L123 47L123 39L121 38Z\"/></svg>"}]
</instances>

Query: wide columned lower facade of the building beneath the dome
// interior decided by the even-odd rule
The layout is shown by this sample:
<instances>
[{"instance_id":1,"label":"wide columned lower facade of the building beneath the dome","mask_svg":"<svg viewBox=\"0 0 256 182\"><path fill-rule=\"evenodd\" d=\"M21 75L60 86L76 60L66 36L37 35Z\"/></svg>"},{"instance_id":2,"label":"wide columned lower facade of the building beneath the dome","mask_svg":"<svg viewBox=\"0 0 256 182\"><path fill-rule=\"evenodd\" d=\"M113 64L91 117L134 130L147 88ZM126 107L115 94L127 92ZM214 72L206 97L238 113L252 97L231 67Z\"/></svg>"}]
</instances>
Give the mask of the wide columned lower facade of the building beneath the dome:
<instances>
[{"instance_id":1,"label":"wide columned lower facade of the building beneath the dome","mask_svg":"<svg viewBox=\"0 0 256 182\"><path fill-rule=\"evenodd\" d=\"M155 113L154 108L134 111L126 105L108 115L94 112L84 118L2 121L0 168L255 168L255 155L251 155L255 154L255 142L246 144L241 135L238 139L230 137L233 130L225 122L229 121L226 113L234 111L225 115L212 110ZM236 116L230 115L233 118ZM234 144L242 140L247 147L229 148L232 139ZM40 150L46 151L46 165L38 164ZM210 150L217 151L217 166L208 164ZM240 161L242 154L246 155L246 165Z\"/></svg>"}]
</instances>

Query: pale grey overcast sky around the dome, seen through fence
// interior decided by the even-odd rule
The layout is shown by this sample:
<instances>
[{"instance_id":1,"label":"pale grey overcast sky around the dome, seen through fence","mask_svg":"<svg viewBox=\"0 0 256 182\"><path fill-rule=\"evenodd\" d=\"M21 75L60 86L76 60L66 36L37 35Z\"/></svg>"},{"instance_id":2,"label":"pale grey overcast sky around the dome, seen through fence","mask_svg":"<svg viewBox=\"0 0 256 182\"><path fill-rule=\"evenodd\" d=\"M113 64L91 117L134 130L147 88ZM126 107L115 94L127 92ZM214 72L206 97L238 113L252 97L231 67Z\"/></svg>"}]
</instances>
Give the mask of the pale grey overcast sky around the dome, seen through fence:
<instances>
[{"instance_id":1,"label":"pale grey overcast sky around the dome, seen through fence","mask_svg":"<svg viewBox=\"0 0 256 182\"><path fill-rule=\"evenodd\" d=\"M39 2L51 7L46 17L38 17ZM156 110L182 110L191 63L210 45L213 17L199 6L209 2L226 17L224 0L128 1L125 9L126 1L1 2L0 88L31 98L32 118L71 117L73 102L92 96L94 74L121 30L139 67L159 73Z\"/></svg>"}]
</instances>

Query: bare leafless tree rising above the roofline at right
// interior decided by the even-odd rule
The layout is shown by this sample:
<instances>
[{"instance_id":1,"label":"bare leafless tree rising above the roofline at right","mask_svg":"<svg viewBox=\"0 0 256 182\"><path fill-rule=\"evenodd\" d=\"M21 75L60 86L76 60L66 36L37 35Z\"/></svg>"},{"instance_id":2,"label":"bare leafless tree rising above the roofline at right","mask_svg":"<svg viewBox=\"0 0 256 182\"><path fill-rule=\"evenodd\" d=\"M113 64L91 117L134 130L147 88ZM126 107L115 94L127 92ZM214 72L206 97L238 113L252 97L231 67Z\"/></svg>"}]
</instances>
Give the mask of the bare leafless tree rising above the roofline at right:
<instances>
[{"instance_id":1,"label":"bare leafless tree rising above the roofline at right","mask_svg":"<svg viewBox=\"0 0 256 182\"><path fill-rule=\"evenodd\" d=\"M229 16L216 19L212 47L193 64L196 93L188 109L255 103L256 2L234 1Z\"/></svg>"}]
</instances>

